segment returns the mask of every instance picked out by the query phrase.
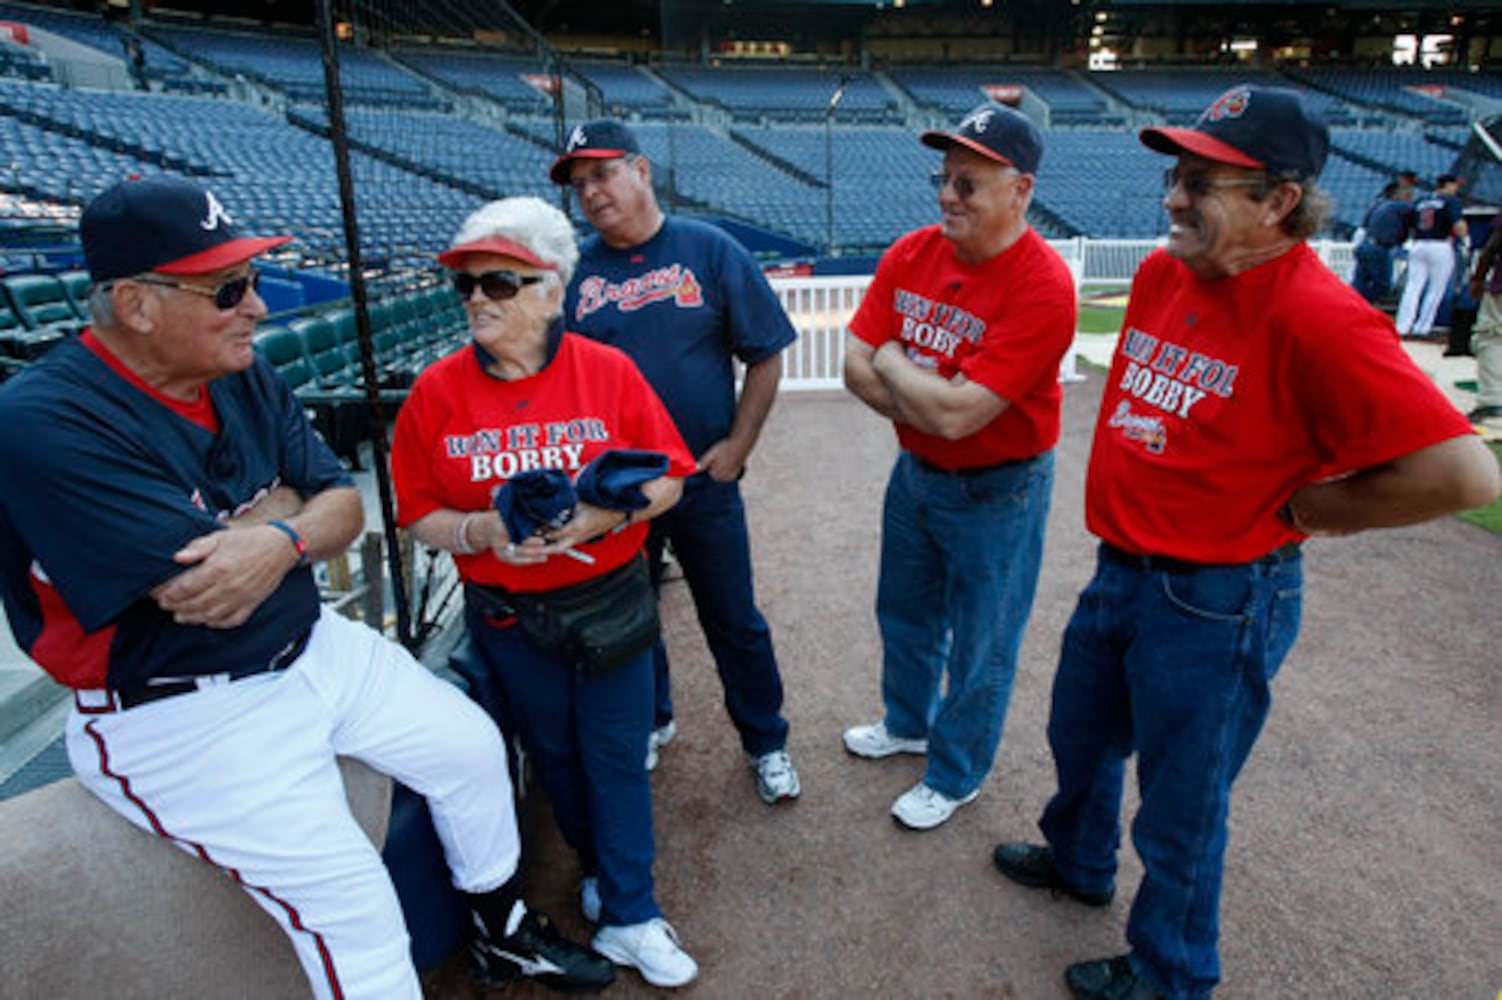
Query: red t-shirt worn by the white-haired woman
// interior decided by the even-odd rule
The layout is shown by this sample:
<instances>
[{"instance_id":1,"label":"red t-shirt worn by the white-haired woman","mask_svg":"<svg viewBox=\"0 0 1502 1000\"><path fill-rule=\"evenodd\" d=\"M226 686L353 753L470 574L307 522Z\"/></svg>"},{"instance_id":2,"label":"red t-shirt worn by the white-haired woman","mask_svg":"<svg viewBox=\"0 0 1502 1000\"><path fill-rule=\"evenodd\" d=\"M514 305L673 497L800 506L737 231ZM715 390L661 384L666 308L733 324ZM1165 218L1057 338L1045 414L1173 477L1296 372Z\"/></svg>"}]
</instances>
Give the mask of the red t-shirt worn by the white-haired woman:
<instances>
[{"instance_id":1,"label":"red t-shirt worn by the white-haired woman","mask_svg":"<svg viewBox=\"0 0 1502 1000\"><path fill-rule=\"evenodd\" d=\"M473 347L436 362L397 414L392 479L397 521L409 526L440 509L487 511L502 483L529 468L577 474L613 447L668 456L670 476L694 473L694 456L656 393L623 353L565 333L553 360L530 378L506 381L481 368ZM556 556L511 566L491 553L454 556L460 577L517 592L554 590L625 565L647 526L577 547L587 565Z\"/></svg>"}]
</instances>

